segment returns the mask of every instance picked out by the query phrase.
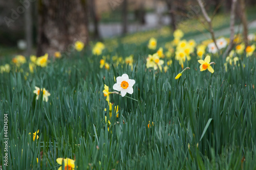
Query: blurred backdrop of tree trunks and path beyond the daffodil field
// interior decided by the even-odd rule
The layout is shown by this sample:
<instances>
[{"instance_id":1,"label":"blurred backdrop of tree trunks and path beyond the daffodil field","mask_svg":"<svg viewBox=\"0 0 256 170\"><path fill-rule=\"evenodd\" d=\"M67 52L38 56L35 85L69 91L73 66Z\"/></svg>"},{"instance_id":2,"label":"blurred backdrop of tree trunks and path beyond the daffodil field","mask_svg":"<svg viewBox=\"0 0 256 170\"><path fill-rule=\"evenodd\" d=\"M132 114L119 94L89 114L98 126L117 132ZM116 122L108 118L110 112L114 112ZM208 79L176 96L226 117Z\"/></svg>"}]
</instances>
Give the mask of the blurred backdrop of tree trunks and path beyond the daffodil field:
<instances>
[{"instance_id":1,"label":"blurred backdrop of tree trunks and path beyond the daffodil field","mask_svg":"<svg viewBox=\"0 0 256 170\"><path fill-rule=\"evenodd\" d=\"M232 0L203 3L214 18L215 31L229 26ZM254 0L238 0L237 25L245 15L247 25L252 22L254 28L255 5ZM56 51L68 51L69 45L77 40L88 44L162 28L169 34L177 28L185 33L186 30L204 32L207 26L203 23L196 0L0 1L0 56L53 55Z\"/></svg>"}]
</instances>

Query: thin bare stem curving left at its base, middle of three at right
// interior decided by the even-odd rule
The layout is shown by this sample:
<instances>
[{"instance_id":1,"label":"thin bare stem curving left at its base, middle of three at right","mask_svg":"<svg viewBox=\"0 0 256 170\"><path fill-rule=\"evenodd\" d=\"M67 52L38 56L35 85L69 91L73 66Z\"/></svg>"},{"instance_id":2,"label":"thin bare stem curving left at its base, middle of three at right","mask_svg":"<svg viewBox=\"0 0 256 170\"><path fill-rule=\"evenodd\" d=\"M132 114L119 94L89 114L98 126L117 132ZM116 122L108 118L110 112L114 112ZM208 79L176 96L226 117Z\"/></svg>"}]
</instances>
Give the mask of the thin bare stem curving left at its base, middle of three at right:
<instances>
[{"instance_id":1,"label":"thin bare stem curving left at its base, middle of three at right","mask_svg":"<svg viewBox=\"0 0 256 170\"><path fill-rule=\"evenodd\" d=\"M224 52L222 58L225 58L227 54L230 52L231 48L233 47L234 43L234 17L235 17L235 11L236 11L236 5L237 5L237 0L232 0L232 5L231 5L231 11L230 11L230 38L229 38L229 45Z\"/></svg>"}]
</instances>

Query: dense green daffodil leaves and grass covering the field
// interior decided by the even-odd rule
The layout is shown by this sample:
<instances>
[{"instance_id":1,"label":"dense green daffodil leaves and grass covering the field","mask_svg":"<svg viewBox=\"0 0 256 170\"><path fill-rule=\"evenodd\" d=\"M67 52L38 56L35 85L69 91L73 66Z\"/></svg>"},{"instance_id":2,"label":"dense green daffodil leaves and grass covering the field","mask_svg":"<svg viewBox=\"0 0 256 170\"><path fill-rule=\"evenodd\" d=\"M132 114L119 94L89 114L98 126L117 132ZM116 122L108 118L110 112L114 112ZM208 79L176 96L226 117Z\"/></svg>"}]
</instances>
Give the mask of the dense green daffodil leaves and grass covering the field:
<instances>
[{"instance_id":1,"label":"dense green daffodil leaves and grass covering the field","mask_svg":"<svg viewBox=\"0 0 256 170\"><path fill-rule=\"evenodd\" d=\"M227 68L223 51L210 54L213 74L200 71L193 54L184 63L190 69L175 80L182 68L174 54L166 72L146 68L148 54L157 51L149 50L147 41L117 43L99 56L87 47L34 72L27 62L0 74L2 168L58 169L57 158L70 158L76 169L256 169L255 53L237 55L238 63ZM133 67L116 64L115 55L134 55ZM102 56L109 69L100 68ZM114 91L122 74L136 81L133 94L126 94L135 100L110 94L112 115L119 107L119 117L110 117L102 91L104 84ZM48 102L41 93L36 100L35 86L51 93ZM33 141L29 133L38 129ZM4 138L9 138L7 152Z\"/></svg>"}]
</instances>

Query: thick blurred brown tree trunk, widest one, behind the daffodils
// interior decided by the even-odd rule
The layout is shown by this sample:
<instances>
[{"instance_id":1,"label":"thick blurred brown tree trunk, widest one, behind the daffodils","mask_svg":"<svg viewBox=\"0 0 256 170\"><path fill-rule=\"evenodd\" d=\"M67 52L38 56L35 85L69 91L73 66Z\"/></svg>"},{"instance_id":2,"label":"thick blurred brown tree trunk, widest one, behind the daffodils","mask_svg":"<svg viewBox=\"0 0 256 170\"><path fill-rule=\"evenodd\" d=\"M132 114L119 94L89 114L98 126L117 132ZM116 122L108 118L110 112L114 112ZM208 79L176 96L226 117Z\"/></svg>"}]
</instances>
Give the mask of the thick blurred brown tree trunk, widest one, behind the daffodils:
<instances>
[{"instance_id":1,"label":"thick blurred brown tree trunk, widest one, behind the daffodils","mask_svg":"<svg viewBox=\"0 0 256 170\"><path fill-rule=\"evenodd\" d=\"M70 52L88 41L86 0L40 0L37 56Z\"/></svg>"}]
</instances>

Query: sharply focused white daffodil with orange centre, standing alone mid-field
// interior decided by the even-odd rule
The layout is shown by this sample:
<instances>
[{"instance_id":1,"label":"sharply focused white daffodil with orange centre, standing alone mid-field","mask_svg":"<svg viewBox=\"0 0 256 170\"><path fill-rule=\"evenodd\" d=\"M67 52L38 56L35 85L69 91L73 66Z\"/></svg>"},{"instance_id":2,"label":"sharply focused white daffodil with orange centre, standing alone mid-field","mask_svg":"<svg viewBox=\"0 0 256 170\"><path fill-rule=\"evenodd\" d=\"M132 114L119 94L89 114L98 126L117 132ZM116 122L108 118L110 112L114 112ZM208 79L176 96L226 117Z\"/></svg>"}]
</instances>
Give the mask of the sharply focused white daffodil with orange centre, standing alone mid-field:
<instances>
[{"instance_id":1,"label":"sharply focused white daffodil with orange centre, standing alone mid-field","mask_svg":"<svg viewBox=\"0 0 256 170\"><path fill-rule=\"evenodd\" d=\"M133 93L133 85L135 84L135 80L129 79L129 76L123 74L121 77L116 78L116 84L114 84L113 89L120 91L122 97L126 94Z\"/></svg>"}]
</instances>

